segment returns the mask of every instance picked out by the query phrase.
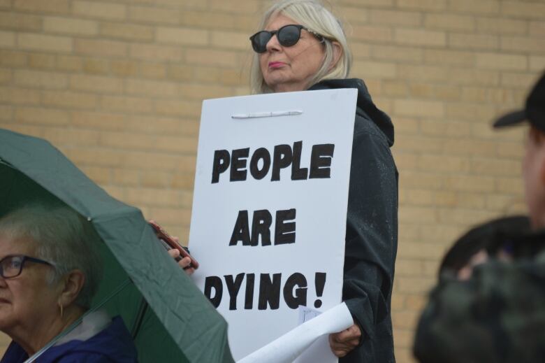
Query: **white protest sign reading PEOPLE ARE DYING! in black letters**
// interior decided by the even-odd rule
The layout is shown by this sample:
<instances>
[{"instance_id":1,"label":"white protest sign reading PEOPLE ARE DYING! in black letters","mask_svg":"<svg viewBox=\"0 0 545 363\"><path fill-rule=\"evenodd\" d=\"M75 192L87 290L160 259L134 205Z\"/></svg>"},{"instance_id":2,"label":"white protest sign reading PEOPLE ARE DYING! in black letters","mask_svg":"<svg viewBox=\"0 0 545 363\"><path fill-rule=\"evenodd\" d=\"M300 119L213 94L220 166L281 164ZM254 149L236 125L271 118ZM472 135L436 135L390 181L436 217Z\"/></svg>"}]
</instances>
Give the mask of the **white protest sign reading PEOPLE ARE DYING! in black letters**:
<instances>
[{"instance_id":1,"label":"white protest sign reading PEOPLE ARE DYING! in black letters","mask_svg":"<svg viewBox=\"0 0 545 363\"><path fill-rule=\"evenodd\" d=\"M235 360L297 327L298 306L341 301L356 97L203 102L189 245Z\"/></svg>"}]
</instances>

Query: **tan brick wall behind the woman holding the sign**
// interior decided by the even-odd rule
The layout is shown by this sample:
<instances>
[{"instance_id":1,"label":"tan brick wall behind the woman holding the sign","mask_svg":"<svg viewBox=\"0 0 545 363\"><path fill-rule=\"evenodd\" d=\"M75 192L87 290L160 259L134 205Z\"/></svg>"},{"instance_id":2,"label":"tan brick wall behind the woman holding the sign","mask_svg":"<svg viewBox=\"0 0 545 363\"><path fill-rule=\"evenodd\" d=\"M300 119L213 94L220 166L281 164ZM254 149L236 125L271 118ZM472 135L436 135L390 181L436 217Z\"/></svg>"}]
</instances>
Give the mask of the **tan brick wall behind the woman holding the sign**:
<instances>
[{"instance_id":1,"label":"tan brick wall behind the woman holding the sign","mask_svg":"<svg viewBox=\"0 0 545 363\"><path fill-rule=\"evenodd\" d=\"M398 362L439 258L467 227L524 211L523 104L545 69L543 0L333 1L395 123ZM201 101L247 94L256 0L0 0L0 127L52 141L113 196L187 240ZM0 345L7 343L0 339Z\"/></svg>"}]
</instances>

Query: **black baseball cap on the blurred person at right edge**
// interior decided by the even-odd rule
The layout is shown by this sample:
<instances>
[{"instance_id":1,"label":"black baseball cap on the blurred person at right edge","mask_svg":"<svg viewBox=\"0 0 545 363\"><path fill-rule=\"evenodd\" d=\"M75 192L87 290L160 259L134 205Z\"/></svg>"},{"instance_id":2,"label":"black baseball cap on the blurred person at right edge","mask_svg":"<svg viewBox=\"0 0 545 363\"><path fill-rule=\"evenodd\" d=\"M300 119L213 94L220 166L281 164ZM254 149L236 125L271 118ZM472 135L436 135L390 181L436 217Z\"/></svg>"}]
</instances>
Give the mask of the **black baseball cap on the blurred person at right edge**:
<instances>
[{"instance_id":1,"label":"black baseball cap on the blurred person at right edge","mask_svg":"<svg viewBox=\"0 0 545 363\"><path fill-rule=\"evenodd\" d=\"M523 110L507 113L494 122L494 128L511 126L528 120L537 129L545 132L545 74L539 78L537 84L526 99Z\"/></svg>"}]
</instances>

